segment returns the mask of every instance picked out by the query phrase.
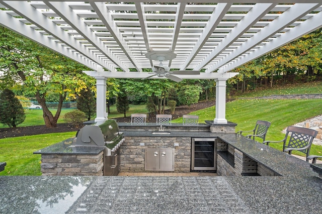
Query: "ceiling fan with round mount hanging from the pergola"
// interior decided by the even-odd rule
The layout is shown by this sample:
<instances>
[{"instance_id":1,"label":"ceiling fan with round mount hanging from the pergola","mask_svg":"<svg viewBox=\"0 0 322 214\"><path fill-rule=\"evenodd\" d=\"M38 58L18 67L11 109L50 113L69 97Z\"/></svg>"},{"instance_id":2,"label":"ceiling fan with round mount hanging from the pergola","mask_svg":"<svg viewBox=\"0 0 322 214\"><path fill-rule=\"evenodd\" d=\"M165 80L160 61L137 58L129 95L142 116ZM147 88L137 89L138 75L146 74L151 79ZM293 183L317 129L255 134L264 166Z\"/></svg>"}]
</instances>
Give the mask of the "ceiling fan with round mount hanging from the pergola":
<instances>
[{"instance_id":1,"label":"ceiling fan with round mount hanging from the pergola","mask_svg":"<svg viewBox=\"0 0 322 214\"><path fill-rule=\"evenodd\" d=\"M145 54L146 58L158 60L159 65L158 66L152 66L152 74L151 76L145 77L143 79L148 79L152 76L158 76L158 77L166 77L168 79L171 79L176 82L182 81L181 78L175 76L175 75L198 75L200 74L199 71L195 70L175 70L170 71L170 68L167 66L164 66L162 64L163 61L170 60L176 58L177 54L171 52L171 51L150 51ZM174 75L175 74L175 75Z\"/></svg>"}]
</instances>

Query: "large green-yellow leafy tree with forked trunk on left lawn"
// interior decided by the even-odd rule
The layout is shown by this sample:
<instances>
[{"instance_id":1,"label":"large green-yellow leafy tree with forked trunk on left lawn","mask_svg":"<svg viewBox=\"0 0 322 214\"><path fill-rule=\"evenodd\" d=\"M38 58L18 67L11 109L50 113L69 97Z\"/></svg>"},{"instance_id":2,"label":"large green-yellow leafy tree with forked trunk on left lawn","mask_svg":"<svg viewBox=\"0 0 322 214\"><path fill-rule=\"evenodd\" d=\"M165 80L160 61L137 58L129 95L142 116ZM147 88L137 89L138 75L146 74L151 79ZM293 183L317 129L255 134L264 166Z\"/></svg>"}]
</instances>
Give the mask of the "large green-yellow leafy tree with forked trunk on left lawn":
<instances>
[{"instance_id":1,"label":"large green-yellow leafy tree with forked trunk on left lawn","mask_svg":"<svg viewBox=\"0 0 322 214\"><path fill-rule=\"evenodd\" d=\"M88 76L83 65L54 53L4 27L0 27L0 70L3 85L23 84L42 106L46 127L56 127L62 102ZM14 80L14 81L12 81ZM46 106L48 91L58 94L55 115ZM24 95L24 94L20 94Z\"/></svg>"}]
</instances>

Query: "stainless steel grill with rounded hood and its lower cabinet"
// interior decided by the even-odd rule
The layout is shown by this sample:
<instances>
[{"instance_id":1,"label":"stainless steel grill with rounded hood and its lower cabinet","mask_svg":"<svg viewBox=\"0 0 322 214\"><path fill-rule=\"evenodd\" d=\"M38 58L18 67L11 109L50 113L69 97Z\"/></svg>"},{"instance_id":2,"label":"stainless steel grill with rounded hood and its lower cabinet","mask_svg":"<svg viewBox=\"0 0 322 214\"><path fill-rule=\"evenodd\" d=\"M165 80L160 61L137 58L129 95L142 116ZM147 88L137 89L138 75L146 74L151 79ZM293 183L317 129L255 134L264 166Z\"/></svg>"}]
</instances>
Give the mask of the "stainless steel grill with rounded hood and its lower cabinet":
<instances>
[{"instance_id":1,"label":"stainless steel grill with rounded hood and its lower cabinet","mask_svg":"<svg viewBox=\"0 0 322 214\"><path fill-rule=\"evenodd\" d=\"M104 147L103 175L117 175L120 171L119 147L123 142L123 133L119 132L116 121L104 120L79 130L75 146Z\"/></svg>"}]
</instances>

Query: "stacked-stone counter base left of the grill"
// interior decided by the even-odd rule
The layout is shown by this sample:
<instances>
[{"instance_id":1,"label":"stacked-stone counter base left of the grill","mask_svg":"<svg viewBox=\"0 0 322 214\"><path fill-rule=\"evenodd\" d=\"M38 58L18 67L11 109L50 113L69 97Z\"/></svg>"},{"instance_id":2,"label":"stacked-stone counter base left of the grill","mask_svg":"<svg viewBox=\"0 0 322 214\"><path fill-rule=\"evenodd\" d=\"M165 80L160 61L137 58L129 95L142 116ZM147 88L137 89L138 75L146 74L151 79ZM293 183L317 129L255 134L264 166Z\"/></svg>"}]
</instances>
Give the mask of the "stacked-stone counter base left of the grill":
<instances>
[{"instance_id":1,"label":"stacked-stone counter base left of the grill","mask_svg":"<svg viewBox=\"0 0 322 214\"><path fill-rule=\"evenodd\" d=\"M98 155L41 155L42 175L103 175L103 152Z\"/></svg>"}]
</instances>

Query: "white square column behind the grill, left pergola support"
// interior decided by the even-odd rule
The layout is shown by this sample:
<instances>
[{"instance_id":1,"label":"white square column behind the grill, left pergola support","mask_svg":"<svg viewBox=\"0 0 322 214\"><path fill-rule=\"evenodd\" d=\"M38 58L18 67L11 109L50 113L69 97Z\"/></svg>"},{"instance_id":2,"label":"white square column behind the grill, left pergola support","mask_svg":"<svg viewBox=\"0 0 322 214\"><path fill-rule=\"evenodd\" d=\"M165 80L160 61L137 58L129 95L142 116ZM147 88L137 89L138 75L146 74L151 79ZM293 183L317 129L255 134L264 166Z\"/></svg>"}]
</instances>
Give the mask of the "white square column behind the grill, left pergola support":
<instances>
[{"instance_id":1,"label":"white square column behind the grill, left pergola support","mask_svg":"<svg viewBox=\"0 0 322 214\"><path fill-rule=\"evenodd\" d=\"M106 80L107 77L95 76L96 79L96 118L95 122L105 120L106 113Z\"/></svg>"}]
</instances>

